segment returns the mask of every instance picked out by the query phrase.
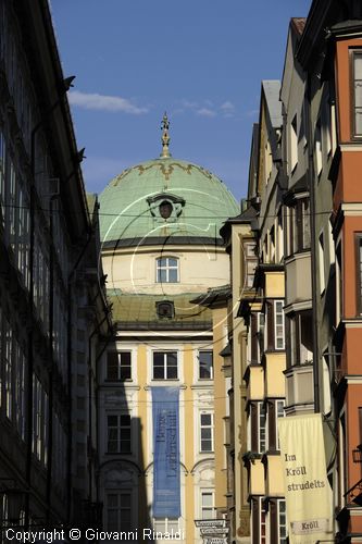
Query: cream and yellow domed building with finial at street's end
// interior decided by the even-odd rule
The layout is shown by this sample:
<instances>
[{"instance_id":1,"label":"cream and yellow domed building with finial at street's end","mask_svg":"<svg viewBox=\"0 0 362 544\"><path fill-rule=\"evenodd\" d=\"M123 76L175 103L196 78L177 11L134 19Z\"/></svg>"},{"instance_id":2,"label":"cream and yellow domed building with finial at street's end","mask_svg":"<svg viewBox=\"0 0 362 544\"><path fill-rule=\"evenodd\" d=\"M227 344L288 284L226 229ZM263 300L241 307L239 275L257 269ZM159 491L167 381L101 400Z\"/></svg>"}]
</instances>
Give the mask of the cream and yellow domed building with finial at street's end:
<instances>
[{"instance_id":1,"label":"cream and yellow domed building with finial at street's end","mask_svg":"<svg viewBox=\"0 0 362 544\"><path fill-rule=\"evenodd\" d=\"M226 509L227 335L226 310L200 301L228 282L219 231L238 206L210 172L173 159L168 141L164 118L161 157L100 196L115 336L99 375L99 499L108 530L202 542L195 520Z\"/></svg>"}]
</instances>

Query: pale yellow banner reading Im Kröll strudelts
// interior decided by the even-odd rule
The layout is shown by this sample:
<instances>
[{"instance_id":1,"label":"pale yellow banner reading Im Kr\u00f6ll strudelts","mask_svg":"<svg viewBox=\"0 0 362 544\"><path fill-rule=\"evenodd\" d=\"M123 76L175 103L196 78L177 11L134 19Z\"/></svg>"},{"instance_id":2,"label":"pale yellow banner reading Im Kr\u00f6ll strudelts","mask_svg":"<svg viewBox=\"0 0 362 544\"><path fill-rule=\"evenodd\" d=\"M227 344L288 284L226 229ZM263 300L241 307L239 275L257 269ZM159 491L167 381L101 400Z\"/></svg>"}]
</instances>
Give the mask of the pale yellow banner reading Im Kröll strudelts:
<instances>
[{"instance_id":1,"label":"pale yellow banner reading Im Kr\u00f6ll strudelts","mask_svg":"<svg viewBox=\"0 0 362 544\"><path fill-rule=\"evenodd\" d=\"M290 544L333 541L321 413L278 418Z\"/></svg>"}]
</instances>

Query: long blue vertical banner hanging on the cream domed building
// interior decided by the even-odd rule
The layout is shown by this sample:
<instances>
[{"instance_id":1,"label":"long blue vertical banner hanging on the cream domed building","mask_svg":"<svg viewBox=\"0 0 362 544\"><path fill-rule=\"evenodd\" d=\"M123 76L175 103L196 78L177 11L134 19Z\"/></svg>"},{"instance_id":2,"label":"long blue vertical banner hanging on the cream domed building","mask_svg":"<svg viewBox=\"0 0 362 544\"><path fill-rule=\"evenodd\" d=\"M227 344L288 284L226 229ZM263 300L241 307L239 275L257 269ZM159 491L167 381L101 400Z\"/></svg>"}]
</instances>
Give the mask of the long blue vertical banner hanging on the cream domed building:
<instances>
[{"instance_id":1,"label":"long blue vertical banner hanging on the cream domed building","mask_svg":"<svg viewBox=\"0 0 362 544\"><path fill-rule=\"evenodd\" d=\"M178 387L152 387L153 517L180 517Z\"/></svg>"}]
</instances>

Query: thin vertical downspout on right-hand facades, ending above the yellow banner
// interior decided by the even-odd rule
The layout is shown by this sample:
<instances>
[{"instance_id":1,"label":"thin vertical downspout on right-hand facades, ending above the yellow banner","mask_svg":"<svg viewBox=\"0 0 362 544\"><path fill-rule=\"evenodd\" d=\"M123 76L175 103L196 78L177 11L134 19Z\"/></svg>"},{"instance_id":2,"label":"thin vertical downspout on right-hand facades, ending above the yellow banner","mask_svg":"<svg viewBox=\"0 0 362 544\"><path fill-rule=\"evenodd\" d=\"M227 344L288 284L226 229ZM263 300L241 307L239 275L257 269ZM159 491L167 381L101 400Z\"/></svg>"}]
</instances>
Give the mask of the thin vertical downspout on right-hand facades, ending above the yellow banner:
<instances>
[{"instance_id":1,"label":"thin vertical downspout on right-hand facades, ending above the yellow banner","mask_svg":"<svg viewBox=\"0 0 362 544\"><path fill-rule=\"evenodd\" d=\"M320 348L319 348L319 324L317 324L317 282L316 282L316 236L315 236L315 190L314 190L314 161L313 161L313 127L311 123L311 76L308 74L308 131L309 131L309 194L311 205L311 275L312 275L312 334L313 334L313 383L314 383L314 412L319 413L320 408Z\"/></svg>"}]
</instances>

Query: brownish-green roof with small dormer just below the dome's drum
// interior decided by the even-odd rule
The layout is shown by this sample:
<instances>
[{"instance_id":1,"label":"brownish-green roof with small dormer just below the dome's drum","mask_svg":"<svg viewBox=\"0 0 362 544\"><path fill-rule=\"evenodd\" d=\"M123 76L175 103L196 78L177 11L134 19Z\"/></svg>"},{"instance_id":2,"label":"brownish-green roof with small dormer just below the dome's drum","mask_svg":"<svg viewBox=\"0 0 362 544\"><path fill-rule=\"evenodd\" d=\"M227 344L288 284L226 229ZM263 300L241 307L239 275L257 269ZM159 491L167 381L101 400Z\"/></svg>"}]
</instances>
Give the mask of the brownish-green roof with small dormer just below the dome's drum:
<instances>
[{"instance_id":1,"label":"brownish-green roof with small dormer just below the dome's drum","mask_svg":"<svg viewBox=\"0 0 362 544\"><path fill-rule=\"evenodd\" d=\"M209 308L202 308L191 298L196 293L182 295L134 295L123 294L121 290L108 292L108 299L112 304L113 321L118 329L142 330L208 330L212 326L212 313ZM173 301L174 318L159 318L157 302Z\"/></svg>"}]
</instances>

